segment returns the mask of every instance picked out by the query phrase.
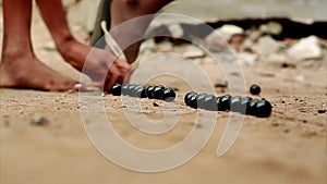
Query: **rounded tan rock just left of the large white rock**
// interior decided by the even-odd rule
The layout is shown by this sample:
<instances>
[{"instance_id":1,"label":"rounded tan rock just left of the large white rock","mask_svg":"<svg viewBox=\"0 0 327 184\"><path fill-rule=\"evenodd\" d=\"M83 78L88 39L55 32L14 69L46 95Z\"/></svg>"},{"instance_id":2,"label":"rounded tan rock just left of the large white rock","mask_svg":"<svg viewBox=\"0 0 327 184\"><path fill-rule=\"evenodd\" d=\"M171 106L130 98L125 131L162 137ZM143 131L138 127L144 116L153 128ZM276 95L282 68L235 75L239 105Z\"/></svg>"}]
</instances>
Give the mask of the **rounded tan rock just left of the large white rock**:
<instances>
[{"instance_id":1,"label":"rounded tan rock just left of the large white rock","mask_svg":"<svg viewBox=\"0 0 327 184\"><path fill-rule=\"evenodd\" d=\"M257 44L253 46L253 50L262 56L276 53L280 48L281 45L270 36L261 37Z\"/></svg>"}]
</instances>

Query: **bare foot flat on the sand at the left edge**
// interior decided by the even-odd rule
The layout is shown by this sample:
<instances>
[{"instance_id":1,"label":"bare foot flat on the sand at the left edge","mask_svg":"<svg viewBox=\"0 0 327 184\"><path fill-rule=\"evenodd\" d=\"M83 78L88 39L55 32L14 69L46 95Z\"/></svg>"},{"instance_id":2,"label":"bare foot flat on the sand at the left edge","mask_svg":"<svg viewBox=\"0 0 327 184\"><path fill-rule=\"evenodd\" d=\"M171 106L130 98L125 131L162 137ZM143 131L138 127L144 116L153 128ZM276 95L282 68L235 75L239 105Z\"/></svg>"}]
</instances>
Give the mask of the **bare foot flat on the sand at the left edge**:
<instances>
[{"instance_id":1,"label":"bare foot flat on the sand at the left edge","mask_svg":"<svg viewBox=\"0 0 327 184\"><path fill-rule=\"evenodd\" d=\"M0 87L64 91L76 89L76 82L46 66L34 56L3 54Z\"/></svg>"}]
</instances>

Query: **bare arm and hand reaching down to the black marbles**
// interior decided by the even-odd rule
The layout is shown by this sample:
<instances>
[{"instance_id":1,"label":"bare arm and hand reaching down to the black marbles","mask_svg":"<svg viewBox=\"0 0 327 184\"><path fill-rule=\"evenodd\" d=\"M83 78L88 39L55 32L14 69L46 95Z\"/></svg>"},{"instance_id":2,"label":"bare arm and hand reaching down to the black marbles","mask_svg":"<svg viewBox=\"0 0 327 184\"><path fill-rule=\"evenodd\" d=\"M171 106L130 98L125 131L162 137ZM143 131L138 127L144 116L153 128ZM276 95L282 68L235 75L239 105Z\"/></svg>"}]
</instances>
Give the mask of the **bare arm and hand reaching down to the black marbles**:
<instances>
[{"instance_id":1,"label":"bare arm and hand reaching down to the black marbles","mask_svg":"<svg viewBox=\"0 0 327 184\"><path fill-rule=\"evenodd\" d=\"M122 83L131 70L111 52L78 42L71 34L60 0L36 0L58 51L76 70L85 72L95 86L108 90L114 83ZM85 62L87 60L87 62ZM109 71L107 73L107 69Z\"/></svg>"}]
</instances>

